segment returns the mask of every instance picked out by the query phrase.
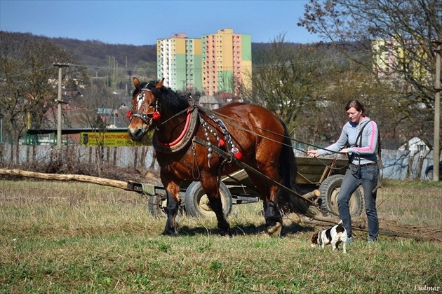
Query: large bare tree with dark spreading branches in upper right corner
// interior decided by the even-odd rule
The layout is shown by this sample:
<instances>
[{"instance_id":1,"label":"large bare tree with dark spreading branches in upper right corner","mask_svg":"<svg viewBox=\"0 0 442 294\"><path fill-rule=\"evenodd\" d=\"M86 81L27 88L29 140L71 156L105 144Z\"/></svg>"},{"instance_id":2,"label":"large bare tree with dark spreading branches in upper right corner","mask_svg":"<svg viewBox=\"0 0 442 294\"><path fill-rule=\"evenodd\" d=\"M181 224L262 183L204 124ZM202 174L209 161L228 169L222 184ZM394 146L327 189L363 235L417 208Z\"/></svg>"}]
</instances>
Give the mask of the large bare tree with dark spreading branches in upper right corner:
<instances>
[{"instance_id":1,"label":"large bare tree with dark spreading branches in upper right corner","mask_svg":"<svg viewBox=\"0 0 442 294\"><path fill-rule=\"evenodd\" d=\"M435 52L442 40L438 0L311 0L299 26L319 34L375 75L392 136L432 132ZM388 52L394 62L382 59ZM386 111L389 108L391 111ZM386 113L388 112L388 113Z\"/></svg>"}]
</instances>

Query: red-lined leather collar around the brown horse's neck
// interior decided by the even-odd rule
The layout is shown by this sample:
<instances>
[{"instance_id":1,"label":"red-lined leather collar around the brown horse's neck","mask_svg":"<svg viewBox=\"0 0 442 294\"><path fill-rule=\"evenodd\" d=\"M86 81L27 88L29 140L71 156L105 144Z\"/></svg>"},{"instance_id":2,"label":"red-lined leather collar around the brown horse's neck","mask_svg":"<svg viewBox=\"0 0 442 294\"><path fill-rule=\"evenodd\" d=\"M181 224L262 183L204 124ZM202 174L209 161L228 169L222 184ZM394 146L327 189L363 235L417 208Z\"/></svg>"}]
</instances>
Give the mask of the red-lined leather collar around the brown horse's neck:
<instances>
[{"instance_id":1,"label":"red-lined leather collar around the brown horse's neck","mask_svg":"<svg viewBox=\"0 0 442 294\"><path fill-rule=\"evenodd\" d=\"M198 111L196 107L187 109L187 118L185 123L185 128L182 130L180 136L172 142L164 143L161 142L158 138L158 134L155 131L154 140L152 142L156 151L162 153L175 153L183 148L185 148L190 141L192 141L192 137L194 136L194 132L196 130L196 123L198 122Z\"/></svg>"}]
</instances>

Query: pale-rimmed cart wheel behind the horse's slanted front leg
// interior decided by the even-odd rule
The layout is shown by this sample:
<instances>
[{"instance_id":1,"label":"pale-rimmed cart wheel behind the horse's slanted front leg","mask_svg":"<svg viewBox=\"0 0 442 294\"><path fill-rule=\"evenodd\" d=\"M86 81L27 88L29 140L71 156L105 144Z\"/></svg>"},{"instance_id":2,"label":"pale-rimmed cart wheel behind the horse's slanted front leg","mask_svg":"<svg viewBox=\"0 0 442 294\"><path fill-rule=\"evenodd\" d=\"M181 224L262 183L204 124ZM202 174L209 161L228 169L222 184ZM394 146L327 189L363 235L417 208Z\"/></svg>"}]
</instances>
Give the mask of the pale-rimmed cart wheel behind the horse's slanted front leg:
<instances>
[{"instance_id":1,"label":"pale-rimmed cart wheel behind the horse's slanted front leg","mask_svg":"<svg viewBox=\"0 0 442 294\"><path fill-rule=\"evenodd\" d=\"M232 211L232 195L225 183L220 183L220 195L222 202L222 211L225 217ZM192 182L185 194L185 210L189 216L215 217L215 213L210 207L210 202L201 187L200 182Z\"/></svg>"}]
</instances>

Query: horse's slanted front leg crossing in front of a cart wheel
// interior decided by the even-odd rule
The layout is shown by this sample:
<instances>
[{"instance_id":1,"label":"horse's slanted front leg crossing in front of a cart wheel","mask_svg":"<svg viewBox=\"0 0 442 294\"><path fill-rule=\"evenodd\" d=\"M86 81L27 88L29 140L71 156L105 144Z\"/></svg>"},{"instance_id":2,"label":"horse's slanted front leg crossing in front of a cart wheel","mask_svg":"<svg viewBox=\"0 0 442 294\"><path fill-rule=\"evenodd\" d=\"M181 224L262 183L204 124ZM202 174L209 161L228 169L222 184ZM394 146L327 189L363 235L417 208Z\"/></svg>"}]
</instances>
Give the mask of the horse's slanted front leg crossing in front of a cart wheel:
<instances>
[{"instance_id":1,"label":"horse's slanted front leg crossing in front of a cart wheel","mask_svg":"<svg viewBox=\"0 0 442 294\"><path fill-rule=\"evenodd\" d=\"M225 218L224 211L222 211L220 186L218 184L217 177L202 176L201 174L201 186L204 192L206 192L210 202L210 208L213 210L213 212L215 212L217 225L221 230L221 235L232 237L230 225Z\"/></svg>"}]
</instances>

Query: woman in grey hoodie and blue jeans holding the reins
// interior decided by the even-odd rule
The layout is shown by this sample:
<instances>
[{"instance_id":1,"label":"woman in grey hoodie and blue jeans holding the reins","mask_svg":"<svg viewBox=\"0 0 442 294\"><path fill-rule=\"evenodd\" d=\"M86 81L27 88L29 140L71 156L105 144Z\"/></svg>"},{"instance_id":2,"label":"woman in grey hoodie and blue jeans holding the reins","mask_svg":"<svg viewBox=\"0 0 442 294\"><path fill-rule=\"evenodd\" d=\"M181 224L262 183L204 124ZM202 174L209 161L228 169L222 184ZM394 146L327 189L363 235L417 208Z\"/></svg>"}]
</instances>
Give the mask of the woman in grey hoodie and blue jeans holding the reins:
<instances>
[{"instance_id":1,"label":"woman in grey hoodie and blue jeans holding the reins","mask_svg":"<svg viewBox=\"0 0 442 294\"><path fill-rule=\"evenodd\" d=\"M349 122L342 127L341 136L337 142L325 149L307 151L307 155L316 158L337 152L348 153L349 167L337 196L340 218L349 237L347 242L353 241L349 201L351 194L361 185L368 219L368 242L374 242L379 234L376 211L376 186L379 177L376 148L379 132L377 124L364 115L365 109L358 100L350 100L345 106L345 111L349 116Z\"/></svg>"}]
</instances>

